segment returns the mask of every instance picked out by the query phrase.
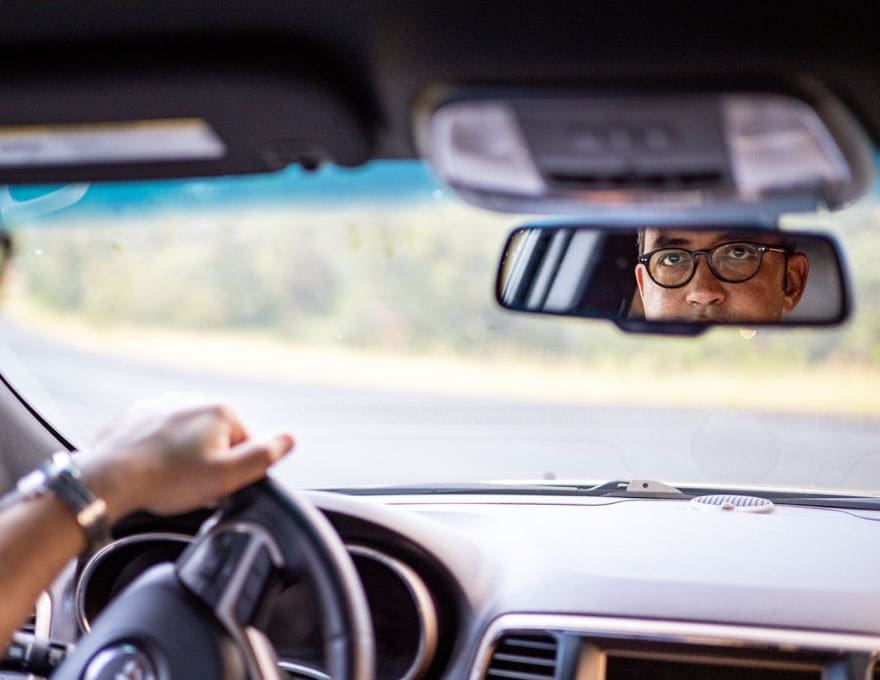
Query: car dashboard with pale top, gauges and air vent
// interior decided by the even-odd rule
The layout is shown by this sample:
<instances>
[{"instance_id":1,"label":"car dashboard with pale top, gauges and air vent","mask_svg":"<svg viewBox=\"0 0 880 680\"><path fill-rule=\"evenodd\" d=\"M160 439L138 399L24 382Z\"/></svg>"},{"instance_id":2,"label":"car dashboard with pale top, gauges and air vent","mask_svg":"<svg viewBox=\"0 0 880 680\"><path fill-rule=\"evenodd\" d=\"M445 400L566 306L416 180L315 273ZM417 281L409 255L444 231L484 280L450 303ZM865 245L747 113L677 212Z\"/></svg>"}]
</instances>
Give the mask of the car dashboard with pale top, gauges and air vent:
<instances>
[{"instance_id":1,"label":"car dashboard with pale top, gauges and air vent","mask_svg":"<svg viewBox=\"0 0 880 680\"><path fill-rule=\"evenodd\" d=\"M364 583L381 680L880 678L880 512L302 493ZM38 623L51 610L52 637L73 640L138 575L175 559L203 518L123 523L56 582ZM327 677L316 606L308 581L272 603L282 677Z\"/></svg>"}]
</instances>

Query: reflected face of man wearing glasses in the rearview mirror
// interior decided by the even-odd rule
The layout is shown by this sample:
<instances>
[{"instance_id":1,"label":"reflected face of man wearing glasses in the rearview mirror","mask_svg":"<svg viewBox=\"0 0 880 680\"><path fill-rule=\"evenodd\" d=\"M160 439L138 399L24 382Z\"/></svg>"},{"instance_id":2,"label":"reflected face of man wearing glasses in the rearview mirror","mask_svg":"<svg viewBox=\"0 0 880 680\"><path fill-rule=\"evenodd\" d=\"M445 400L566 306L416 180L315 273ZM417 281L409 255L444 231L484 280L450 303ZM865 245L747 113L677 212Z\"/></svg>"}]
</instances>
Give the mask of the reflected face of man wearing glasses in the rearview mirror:
<instances>
[{"instance_id":1,"label":"reflected face of man wearing glasses in the rearview mirror","mask_svg":"<svg viewBox=\"0 0 880 680\"><path fill-rule=\"evenodd\" d=\"M709 251L711 263L691 251ZM809 271L806 255L769 231L645 229L639 255L645 318L656 321L779 321L800 301Z\"/></svg>"}]
</instances>

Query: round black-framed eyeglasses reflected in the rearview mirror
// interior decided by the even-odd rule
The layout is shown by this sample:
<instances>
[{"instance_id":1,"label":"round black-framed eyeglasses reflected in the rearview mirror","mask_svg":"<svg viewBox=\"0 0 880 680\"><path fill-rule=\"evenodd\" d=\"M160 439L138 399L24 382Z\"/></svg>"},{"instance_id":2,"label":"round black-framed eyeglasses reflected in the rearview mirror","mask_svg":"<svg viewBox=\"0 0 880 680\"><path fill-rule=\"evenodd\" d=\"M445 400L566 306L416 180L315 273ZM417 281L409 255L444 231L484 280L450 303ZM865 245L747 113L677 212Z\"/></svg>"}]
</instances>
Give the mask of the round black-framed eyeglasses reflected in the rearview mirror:
<instances>
[{"instance_id":1,"label":"round black-framed eyeglasses reflected in the rearview mirror","mask_svg":"<svg viewBox=\"0 0 880 680\"><path fill-rule=\"evenodd\" d=\"M697 255L703 255L715 278L726 283L743 283L758 273L764 253L789 254L789 249L749 241L719 243L708 250L658 248L639 255L648 275L663 288L681 288L697 271Z\"/></svg>"}]
</instances>

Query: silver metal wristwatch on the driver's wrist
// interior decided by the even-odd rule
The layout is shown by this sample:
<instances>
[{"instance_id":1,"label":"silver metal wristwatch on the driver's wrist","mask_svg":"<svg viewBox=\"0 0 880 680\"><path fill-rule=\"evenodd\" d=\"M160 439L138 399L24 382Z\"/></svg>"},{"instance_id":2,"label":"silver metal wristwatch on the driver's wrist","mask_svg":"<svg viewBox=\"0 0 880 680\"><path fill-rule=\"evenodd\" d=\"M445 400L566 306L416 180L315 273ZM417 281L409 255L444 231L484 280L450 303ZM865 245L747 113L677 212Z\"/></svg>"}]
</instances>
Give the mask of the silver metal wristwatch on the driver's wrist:
<instances>
[{"instance_id":1,"label":"silver metal wristwatch on the driver's wrist","mask_svg":"<svg viewBox=\"0 0 880 680\"><path fill-rule=\"evenodd\" d=\"M21 497L55 494L73 513L86 537L86 552L91 553L110 540L107 504L98 498L82 479L69 451L59 451L44 465L26 474L16 484Z\"/></svg>"}]
</instances>

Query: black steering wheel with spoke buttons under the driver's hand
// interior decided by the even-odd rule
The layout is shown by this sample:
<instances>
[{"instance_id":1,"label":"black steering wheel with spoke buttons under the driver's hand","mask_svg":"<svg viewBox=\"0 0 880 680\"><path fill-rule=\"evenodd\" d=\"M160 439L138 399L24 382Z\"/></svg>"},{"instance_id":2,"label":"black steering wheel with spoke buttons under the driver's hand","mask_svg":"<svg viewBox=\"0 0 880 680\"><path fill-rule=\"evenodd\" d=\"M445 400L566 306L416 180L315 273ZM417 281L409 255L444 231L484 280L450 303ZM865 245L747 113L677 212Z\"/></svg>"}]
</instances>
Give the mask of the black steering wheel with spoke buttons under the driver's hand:
<instances>
[{"instance_id":1,"label":"black steering wheel with spoke buttons under the driver's hand","mask_svg":"<svg viewBox=\"0 0 880 680\"><path fill-rule=\"evenodd\" d=\"M131 584L52 679L280 678L259 627L273 596L306 575L327 674L371 680L372 624L348 551L324 515L272 479L225 499L176 564Z\"/></svg>"}]
</instances>

